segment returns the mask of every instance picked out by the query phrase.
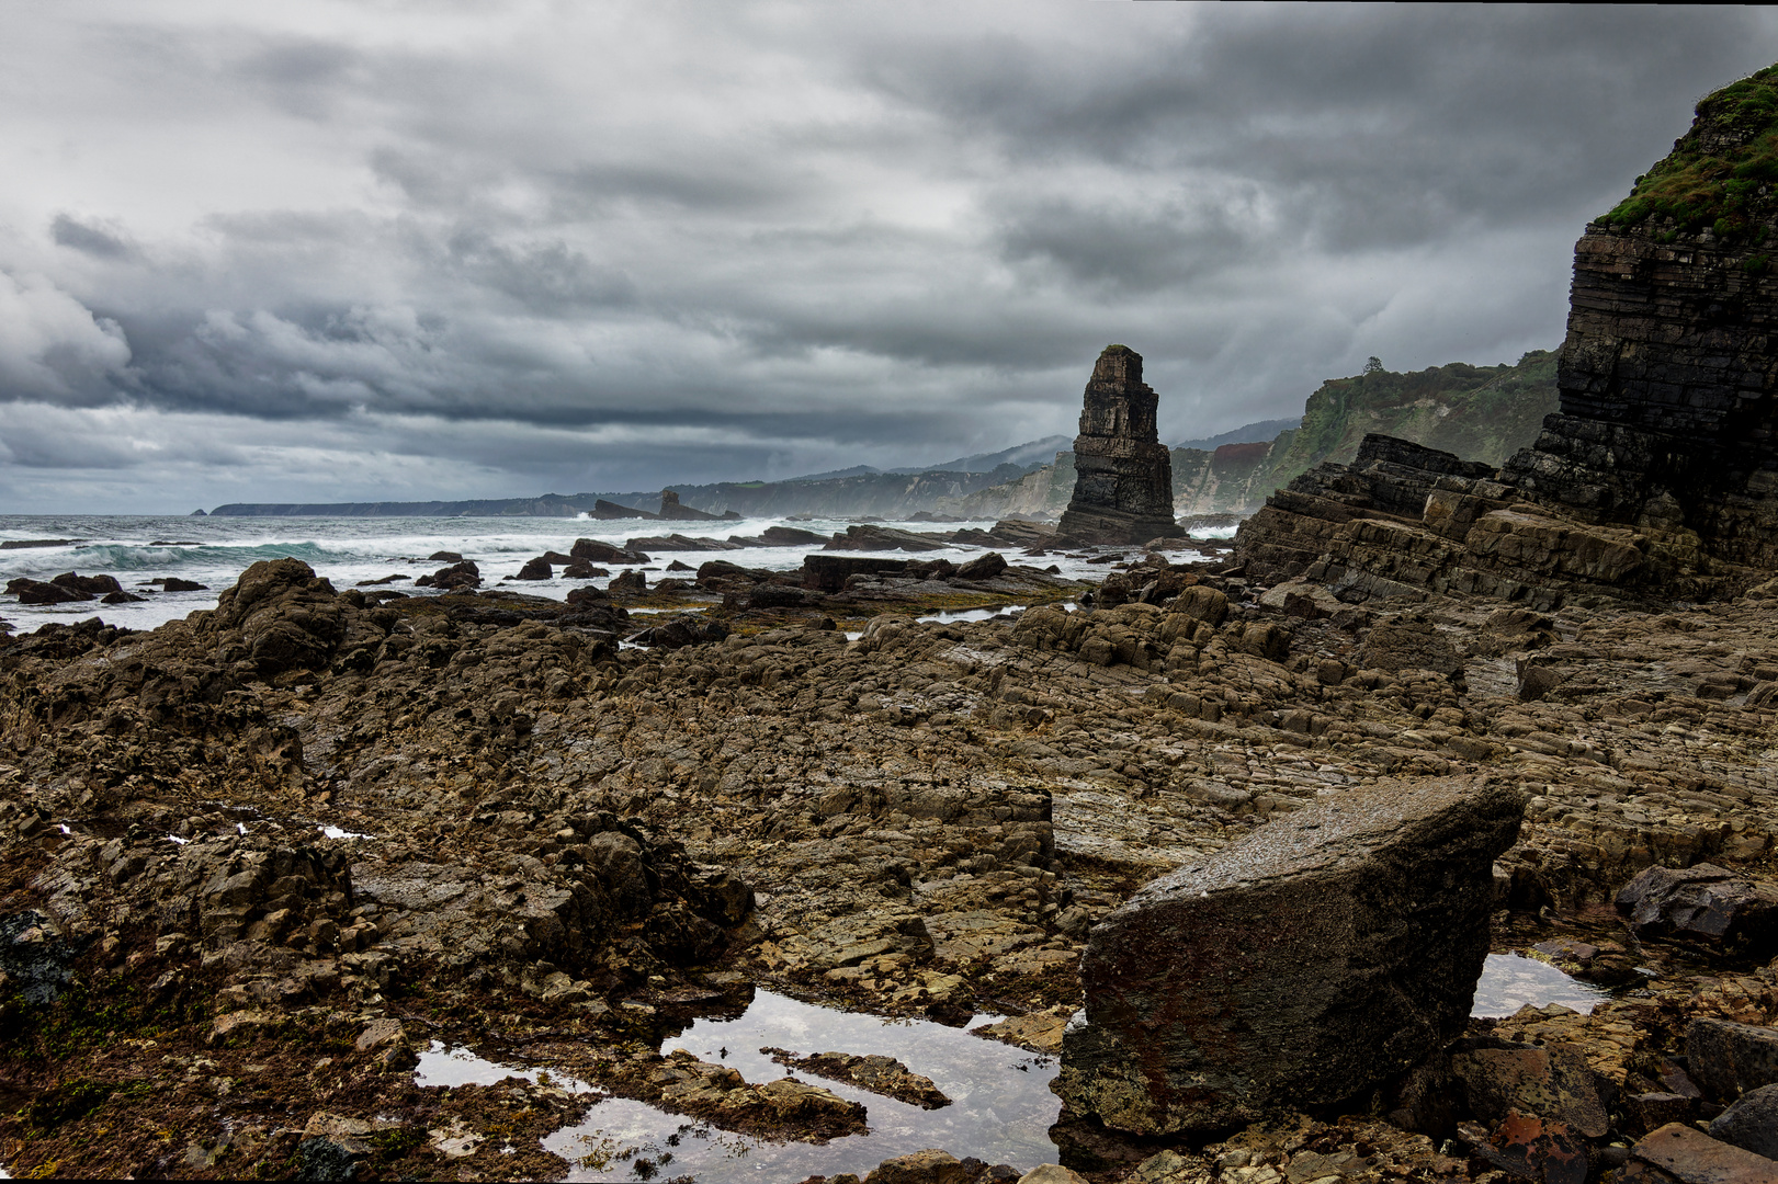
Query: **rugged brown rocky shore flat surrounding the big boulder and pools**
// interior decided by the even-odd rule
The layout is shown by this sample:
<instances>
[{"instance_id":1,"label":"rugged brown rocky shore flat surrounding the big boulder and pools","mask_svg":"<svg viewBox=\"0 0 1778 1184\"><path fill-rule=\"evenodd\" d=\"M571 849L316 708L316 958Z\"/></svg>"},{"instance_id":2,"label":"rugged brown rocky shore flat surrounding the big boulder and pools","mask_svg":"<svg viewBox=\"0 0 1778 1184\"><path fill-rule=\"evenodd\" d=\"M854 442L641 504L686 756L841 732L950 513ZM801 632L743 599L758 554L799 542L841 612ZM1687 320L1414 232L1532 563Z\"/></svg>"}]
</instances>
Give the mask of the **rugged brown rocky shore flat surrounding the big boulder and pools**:
<instances>
[{"instance_id":1,"label":"rugged brown rocky shore flat surrounding the big boulder and pools","mask_svg":"<svg viewBox=\"0 0 1778 1184\"><path fill-rule=\"evenodd\" d=\"M891 610L857 640L820 613L715 604L722 640L624 649L612 601L373 604L293 560L153 633L11 638L9 1168L286 1175L302 1147L332 1154L322 1140L364 1177L558 1175L535 1136L576 1097L416 1088L411 1049L672 1106L649 1084L654 1042L756 985L946 1022L996 1010L1054 1052L1088 928L1141 884L1399 777L1527 795L1495 868L1495 951L1568 940L1607 980L1611 948L1655 971L1590 1017L1470 1024L1586 1047L1614 1099L1600 1154L1670 1113L1636 1099L1662 1092L1650 1074L1693 1019L1778 1019L1771 965L1638 944L1611 912L1652 862L1771 876L1778 601L1355 608L1127 556L1088 612L1001 620L919 622L949 585L855 581L855 604ZM887 592L903 599L869 599ZM765 1102L704 1104L681 1100L781 1129ZM316 1115L398 1125L334 1140ZM1446 1143L1334 1118L1166 1154L1209 1172L1387 1145L1442 1179L1494 1170L1458 1127ZM480 1150L448 1157L459 1129ZM1159 1154L1106 1131L1061 1143L1101 1180ZM1230 1164L1220 1179L1261 1179Z\"/></svg>"}]
</instances>

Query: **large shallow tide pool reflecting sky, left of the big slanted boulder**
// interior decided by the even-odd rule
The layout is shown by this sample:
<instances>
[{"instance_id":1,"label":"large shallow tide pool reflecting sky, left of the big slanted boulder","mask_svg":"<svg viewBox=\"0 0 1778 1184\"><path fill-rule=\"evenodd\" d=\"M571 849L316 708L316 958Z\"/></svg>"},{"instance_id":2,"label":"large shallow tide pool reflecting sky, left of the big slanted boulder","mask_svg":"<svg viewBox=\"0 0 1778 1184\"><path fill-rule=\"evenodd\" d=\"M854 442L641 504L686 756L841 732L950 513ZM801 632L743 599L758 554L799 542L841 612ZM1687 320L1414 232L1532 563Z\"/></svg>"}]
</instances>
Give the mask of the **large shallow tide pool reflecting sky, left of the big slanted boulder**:
<instances>
[{"instance_id":1,"label":"large shallow tide pool reflecting sky, left of the big slanted boulder","mask_svg":"<svg viewBox=\"0 0 1778 1184\"><path fill-rule=\"evenodd\" d=\"M971 1028L996 1019L978 1015ZM686 1049L699 1060L731 1065L747 1081L761 1084L789 1076L788 1068L759 1052L768 1045L797 1052L894 1056L916 1074L932 1077L951 1104L921 1109L798 1074L802 1081L862 1104L869 1111L869 1131L825 1147L768 1143L693 1124L642 1102L601 1099L585 1122L557 1131L544 1140L544 1147L576 1164L569 1173L573 1180L660 1175L692 1177L699 1184L798 1180L839 1172L862 1177L891 1156L928 1147L942 1147L957 1157L1008 1163L1021 1172L1056 1159L1056 1147L1049 1141L1049 1125L1061 1106L1049 1092L1056 1076L1054 1058L971 1036L960 1028L832 1012L761 990L740 1019L697 1020L667 1040L661 1051Z\"/></svg>"}]
</instances>

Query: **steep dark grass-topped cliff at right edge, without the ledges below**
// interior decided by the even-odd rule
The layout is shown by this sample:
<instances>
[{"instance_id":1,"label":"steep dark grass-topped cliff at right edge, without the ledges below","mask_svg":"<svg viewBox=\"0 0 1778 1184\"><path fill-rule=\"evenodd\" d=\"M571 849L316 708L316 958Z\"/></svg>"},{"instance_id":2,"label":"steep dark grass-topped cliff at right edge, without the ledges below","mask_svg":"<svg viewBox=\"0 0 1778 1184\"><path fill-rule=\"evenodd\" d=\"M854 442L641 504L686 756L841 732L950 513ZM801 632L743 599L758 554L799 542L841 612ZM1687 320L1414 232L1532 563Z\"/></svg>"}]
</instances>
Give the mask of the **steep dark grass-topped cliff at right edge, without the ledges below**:
<instances>
[{"instance_id":1,"label":"steep dark grass-topped cliff at right edge, without the ledges below","mask_svg":"<svg viewBox=\"0 0 1778 1184\"><path fill-rule=\"evenodd\" d=\"M1590 523L1778 564L1778 68L1693 128L1575 245L1561 411L1504 476Z\"/></svg>"}]
</instances>

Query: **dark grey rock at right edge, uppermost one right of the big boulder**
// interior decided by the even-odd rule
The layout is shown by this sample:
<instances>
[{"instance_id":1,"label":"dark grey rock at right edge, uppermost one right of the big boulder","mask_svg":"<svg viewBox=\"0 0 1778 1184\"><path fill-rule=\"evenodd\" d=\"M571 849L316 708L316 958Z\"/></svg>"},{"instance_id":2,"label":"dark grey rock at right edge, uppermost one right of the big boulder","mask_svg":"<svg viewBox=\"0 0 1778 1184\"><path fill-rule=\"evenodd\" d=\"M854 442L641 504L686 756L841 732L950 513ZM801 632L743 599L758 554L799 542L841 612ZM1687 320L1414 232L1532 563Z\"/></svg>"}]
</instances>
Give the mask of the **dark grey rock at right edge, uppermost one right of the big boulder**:
<instances>
[{"instance_id":1,"label":"dark grey rock at right edge, uppermost one right of the big boulder","mask_svg":"<svg viewBox=\"0 0 1778 1184\"><path fill-rule=\"evenodd\" d=\"M1778 953L1778 887L1716 864L1648 868L1623 885L1616 905L1641 940L1682 942L1730 958Z\"/></svg>"}]
</instances>

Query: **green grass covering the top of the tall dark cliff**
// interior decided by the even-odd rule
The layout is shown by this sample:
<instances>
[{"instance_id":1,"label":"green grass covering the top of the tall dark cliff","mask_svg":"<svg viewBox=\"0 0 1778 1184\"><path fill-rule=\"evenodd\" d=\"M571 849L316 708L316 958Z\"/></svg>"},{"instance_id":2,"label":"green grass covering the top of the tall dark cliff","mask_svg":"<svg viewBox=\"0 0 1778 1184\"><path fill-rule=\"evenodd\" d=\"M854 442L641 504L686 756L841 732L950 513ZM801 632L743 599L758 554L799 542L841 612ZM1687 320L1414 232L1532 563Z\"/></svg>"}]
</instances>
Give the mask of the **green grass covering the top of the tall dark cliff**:
<instances>
[{"instance_id":1,"label":"green grass covering the top of the tall dark cliff","mask_svg":"<svg viewBox=\"0 0 1778 1184\"><path fill-rule=\"evenodd\" d=\"M1778 66L1705 96L1696 116L1673 151L1636 178L1630 196L1600 222L1673 219L1666 242L1705 226L1725 240L1764 236L1753 219L1767 212L1767 187L1778 181Z\"/></svg>"}]
</instances>

